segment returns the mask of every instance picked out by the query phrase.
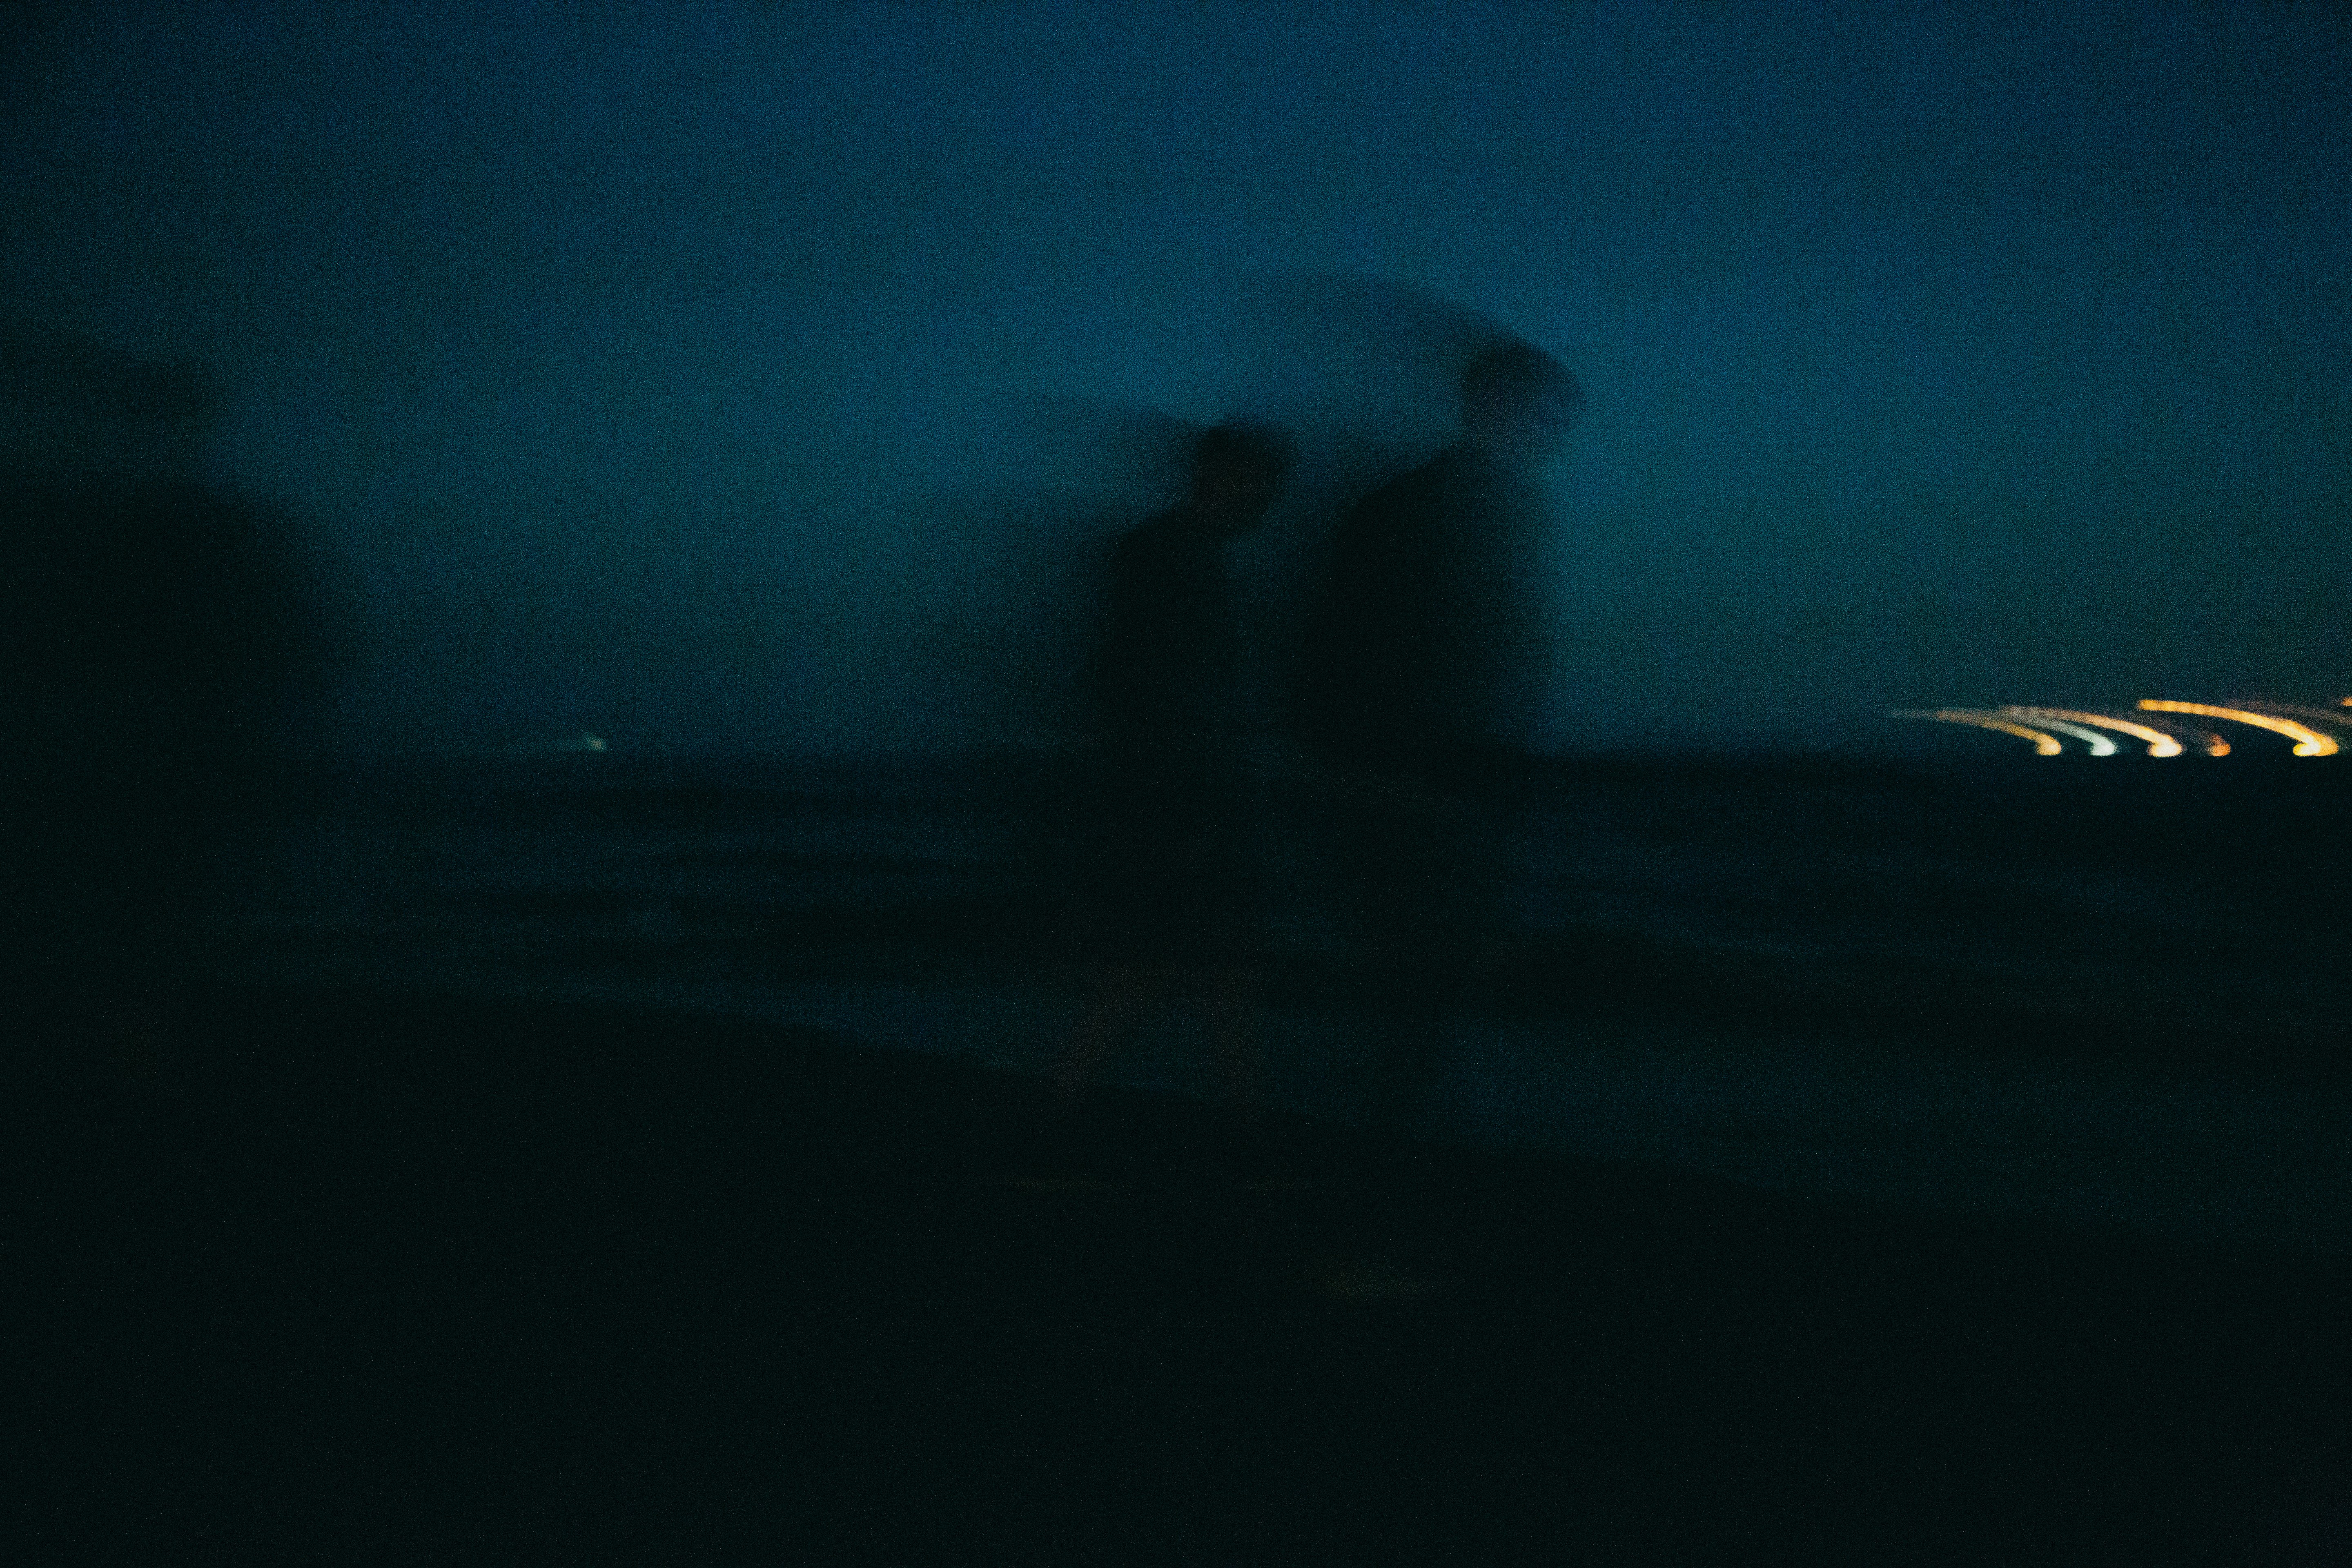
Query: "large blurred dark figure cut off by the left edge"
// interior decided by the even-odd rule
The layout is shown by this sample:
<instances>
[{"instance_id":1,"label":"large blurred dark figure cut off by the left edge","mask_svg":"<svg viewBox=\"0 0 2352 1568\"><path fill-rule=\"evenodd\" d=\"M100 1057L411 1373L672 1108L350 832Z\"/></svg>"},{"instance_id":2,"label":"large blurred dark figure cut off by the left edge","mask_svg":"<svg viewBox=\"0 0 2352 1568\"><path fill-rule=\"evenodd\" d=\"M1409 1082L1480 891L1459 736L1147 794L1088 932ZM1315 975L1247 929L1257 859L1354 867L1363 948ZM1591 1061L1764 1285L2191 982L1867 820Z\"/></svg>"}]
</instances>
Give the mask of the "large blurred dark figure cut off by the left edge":
<instances>
[{"instance_id":1,"label":"large blurred dark figure cut off by the left edge","mask_svg":"<svg viewBox=\"0 0 2352 1568\"><path fill-rule=\"evenodd\" d=\"M59 440L0 480L0 945L19 1039L87 1070L169 1034L207 903L294 799L334 661L285 522L174 477L212 409L198 378L73 343L12 346L7 369L9 409ZM103 444L139 425L158 440Z\"/></svg>"}]
</instances>

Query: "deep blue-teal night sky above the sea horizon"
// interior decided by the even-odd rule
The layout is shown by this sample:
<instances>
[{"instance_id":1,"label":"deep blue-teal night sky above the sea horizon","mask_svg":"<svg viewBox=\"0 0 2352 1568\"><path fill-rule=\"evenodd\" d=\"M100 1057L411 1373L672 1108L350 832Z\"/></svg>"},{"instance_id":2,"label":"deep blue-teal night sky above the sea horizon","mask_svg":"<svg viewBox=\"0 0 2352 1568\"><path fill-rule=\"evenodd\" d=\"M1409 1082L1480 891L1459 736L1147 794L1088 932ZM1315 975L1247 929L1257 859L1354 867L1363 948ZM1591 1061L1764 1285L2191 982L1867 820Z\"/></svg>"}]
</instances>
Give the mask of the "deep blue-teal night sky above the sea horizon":
<instances>
[{"instance_id":1,"label":"deep blue-teal night sky above the sea horizon","mask_svg":"<svg viewBox=\"0 0 2352 1568\"><path fill-rule=\"evenodd\" d=\"M1171 421L1298 425L1277 625L1451 310L1590 393L1555 745L2352 696L2343 5L87 12L0 324L209 378L374 745L1051 738Z\"/></svg>"}]
</instances>

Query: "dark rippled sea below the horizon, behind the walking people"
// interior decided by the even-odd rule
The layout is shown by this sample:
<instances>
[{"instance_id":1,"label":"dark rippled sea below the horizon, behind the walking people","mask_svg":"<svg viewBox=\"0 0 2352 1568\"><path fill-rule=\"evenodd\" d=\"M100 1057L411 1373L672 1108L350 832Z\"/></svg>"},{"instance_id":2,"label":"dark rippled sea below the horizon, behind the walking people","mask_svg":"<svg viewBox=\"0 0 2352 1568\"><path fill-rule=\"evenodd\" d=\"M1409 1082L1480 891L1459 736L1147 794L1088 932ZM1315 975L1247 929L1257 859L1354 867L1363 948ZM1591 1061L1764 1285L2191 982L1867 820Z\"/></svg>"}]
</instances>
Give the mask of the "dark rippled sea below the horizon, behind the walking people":
<instances>
[{"instance_id":1,"label":"dark rippled sea below the horizon, behind the walking people","mask_svg":"<svg viewBox=\"0 0 2352 1568\"><path fill-rule=\"evenodd\" d=\"M348 764L221 891L221 980L762 1018L1051 1072L1101 971L1065 764ZM1268 1095L1364 1114L1329 780L1268 769ZM1479 818L1425 1138L1792 1194L2352 1244L2352 764L1592 757ZM1496 870L1498 867L1498 870ZM1216 1093L1169 1006L1108 1077Z\"/></svg>"}]
</instances>

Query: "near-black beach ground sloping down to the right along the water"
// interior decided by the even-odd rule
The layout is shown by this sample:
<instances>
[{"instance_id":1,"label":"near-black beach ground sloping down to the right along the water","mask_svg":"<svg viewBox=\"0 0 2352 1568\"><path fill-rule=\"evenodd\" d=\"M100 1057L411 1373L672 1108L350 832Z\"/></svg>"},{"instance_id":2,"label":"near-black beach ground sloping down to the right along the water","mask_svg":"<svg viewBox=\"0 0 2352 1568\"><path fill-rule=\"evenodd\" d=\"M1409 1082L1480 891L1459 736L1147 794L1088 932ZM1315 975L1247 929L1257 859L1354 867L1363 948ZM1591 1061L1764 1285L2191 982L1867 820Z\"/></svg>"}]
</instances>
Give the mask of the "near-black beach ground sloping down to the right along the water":
<instances>
[{"instance_id":1,"label":"near-black beach ground sloping down to the right along the water","mask_svg":"<svg viewBox=\"0 0 2352 1568\"><path fill-rule=\"evenodd\" d=\"M195 1041L12 1117L12 1561L2352 1552L2328 1258L1141 1098L1073 1150L1033 1084L701 1018ZM1007 1180L1075 1171L1127 1180ZM1383 1248L1451 1284L1357 1291Z\"/></svg>"}]
</instances>

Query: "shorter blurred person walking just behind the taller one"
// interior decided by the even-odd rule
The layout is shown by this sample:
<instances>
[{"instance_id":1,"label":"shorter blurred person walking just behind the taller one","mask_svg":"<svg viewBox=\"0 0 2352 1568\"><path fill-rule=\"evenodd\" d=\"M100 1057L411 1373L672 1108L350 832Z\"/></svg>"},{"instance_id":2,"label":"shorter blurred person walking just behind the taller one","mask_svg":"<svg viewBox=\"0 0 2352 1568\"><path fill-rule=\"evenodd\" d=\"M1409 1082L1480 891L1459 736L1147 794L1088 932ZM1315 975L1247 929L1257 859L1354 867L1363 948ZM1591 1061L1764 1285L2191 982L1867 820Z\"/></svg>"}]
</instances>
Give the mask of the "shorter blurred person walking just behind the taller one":
<instances>
[{"instance_id":1,"label":"shorter blurred person walking just behind the taller one","mask_svg":"<svg viewBox=\"0 0 2352 1568\"><path fill-rule=\"evenodd\" d=\"M1251 813L1225 545L1263 522L1291 458L1279 430L1216 425L1195 447L1185 501L1112 552L1089 872L1103 978L1063 1051L1065 1107L1145 1009L1192 990L1230 1107L1244 1121L1256 1110Z\"/></svg>"}]
</instances>

